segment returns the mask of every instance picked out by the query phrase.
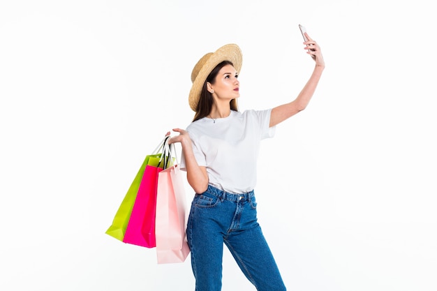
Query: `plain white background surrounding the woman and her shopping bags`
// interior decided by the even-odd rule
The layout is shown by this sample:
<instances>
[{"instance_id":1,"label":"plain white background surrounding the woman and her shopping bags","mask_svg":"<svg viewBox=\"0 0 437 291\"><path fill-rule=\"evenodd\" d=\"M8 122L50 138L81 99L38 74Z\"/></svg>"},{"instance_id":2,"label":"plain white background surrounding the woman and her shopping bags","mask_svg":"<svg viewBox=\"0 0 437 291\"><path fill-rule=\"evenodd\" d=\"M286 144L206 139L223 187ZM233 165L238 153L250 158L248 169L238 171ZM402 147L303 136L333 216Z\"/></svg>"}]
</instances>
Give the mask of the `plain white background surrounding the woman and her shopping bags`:
<instances>
[{"instance_id":1,"label":"plain white background surrounding the woman and her shopping bags","mask_svg":"<svg viewBox=\"0 0 437 291\"><path fill-rule=\"evenodd\" d=\"M437 290L434 11L1 1L0 289L194 290L189 258L158 265L105 231L144 157L191 122L198 59L237 43L240 110L286 103L313 69L300 23L327 66L309 107L262 142L256 188L288 289ZM223 290L254 290L224 256Z\"/></svg>"}]
</instances>

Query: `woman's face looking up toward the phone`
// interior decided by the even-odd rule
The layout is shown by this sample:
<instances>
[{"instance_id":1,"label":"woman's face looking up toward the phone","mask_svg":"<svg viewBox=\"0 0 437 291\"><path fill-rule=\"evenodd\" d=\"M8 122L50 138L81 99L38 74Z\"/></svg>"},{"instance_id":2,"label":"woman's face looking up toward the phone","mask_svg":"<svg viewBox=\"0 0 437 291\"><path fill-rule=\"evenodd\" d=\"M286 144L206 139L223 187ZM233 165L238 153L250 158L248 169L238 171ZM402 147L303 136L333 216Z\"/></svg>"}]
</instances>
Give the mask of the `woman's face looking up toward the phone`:
<instances>
[{"instance_id":1,"label":"woman's face looking up toward the phone","mask_svg":"<svg viewBox=\"0 0 437 291\"><path fill-rule=\"evenodd\" d=\"M208 83L208 90L214 90L213 96L223 99L235 99L239 97L239 81L237 70L232 65L225 65L214 80L214 84Z\"/></svg>"}]
</instances>

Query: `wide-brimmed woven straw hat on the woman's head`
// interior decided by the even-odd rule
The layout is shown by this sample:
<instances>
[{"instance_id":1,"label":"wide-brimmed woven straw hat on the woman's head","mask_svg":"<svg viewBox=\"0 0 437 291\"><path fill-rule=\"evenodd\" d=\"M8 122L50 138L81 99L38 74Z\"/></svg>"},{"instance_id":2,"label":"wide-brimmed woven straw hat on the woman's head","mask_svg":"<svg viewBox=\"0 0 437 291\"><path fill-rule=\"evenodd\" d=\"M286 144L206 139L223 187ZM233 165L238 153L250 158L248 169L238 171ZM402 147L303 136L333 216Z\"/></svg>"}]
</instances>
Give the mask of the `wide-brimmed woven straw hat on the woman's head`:
<instances>
[{"instance_id":1,"label":"wide-brimmed woven straw hat on the woman's head","mask_svg":"<svg viewBox=\"0 0 437 291\"><path fill-rule=\"evenodd\" d=\"M195 112L196 107L198 107L200 93L202 92L202 87L209 73L222 61L231 61L234 64L235 70L239 72L242 69L242 51L239 49L238 45L229 44L223 45L216 52L209 52L205 54L195 64L193 72L191 73L191 82L193 86L190 90L190 95L188 96L188 103L191 109Z\"/></svg>"}]
</instances>

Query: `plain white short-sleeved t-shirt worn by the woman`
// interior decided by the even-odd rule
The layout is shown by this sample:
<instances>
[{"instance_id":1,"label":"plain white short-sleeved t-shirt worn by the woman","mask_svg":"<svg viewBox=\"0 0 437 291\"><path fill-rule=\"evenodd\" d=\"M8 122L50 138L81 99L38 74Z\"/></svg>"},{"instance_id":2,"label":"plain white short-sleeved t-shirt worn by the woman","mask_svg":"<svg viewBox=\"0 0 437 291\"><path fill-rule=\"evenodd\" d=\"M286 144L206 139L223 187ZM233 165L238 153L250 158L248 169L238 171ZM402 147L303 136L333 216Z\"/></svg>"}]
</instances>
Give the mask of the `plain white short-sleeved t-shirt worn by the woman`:
<instances>
[{"instance_id":1,"label":"plain white short-sleeved t-shirt worn by the woman","mask_svg":"<svg viewBox=\"0 0 437 291\"><path fill-rule=\"evenodd\" d=\"M198 165L207 167L210 185L229 193L255 188L260 141L275 132L269 128L271 112L232 110L228 117L204 117L186 128ZM184 155L181 169L186 170Z\"/></svg>"}]
</instances>

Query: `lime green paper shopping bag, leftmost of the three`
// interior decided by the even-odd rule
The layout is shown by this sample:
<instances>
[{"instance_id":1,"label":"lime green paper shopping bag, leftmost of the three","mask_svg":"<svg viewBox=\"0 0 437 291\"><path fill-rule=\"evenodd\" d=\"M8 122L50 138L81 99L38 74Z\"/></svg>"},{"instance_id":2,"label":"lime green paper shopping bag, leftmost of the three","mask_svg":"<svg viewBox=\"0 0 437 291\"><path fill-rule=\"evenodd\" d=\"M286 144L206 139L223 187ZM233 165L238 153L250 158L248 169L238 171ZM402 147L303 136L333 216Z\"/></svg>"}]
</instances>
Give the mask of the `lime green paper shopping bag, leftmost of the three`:
<instances>
[{"instance_id":1,"label":"lime green paper shopping bag, leftmost of the three","mask_svg":"<svg viewBox=\"0 0 437 291\"><path fill-rule=\"evenodd\" d=\"M112 225L106 230L106 234L114 237L115 239L119 239L123 241L124 234L126 233L126 228L128 226L129 219L131 218L131 213L133 210L133 205L135 204L135 199L137 197L138 190L140 188L140 184L142 181L143 174L145 172L145 168L147 165L158 165L159 160L161 158L161 153L158 153L159 149L163 150L163 145L165 144L165 139L158 144L158 147L153 151L154 154L146 156L143 161L140 170L138 170L135 179L131 186L128 188L126 195L124 196L123 201L121 202L117 213L114 216L112 221ZM149 160L150 163L149 163Z\"/></svg>"}]
</instances>

